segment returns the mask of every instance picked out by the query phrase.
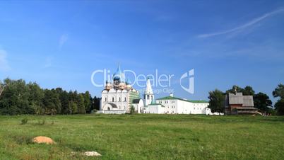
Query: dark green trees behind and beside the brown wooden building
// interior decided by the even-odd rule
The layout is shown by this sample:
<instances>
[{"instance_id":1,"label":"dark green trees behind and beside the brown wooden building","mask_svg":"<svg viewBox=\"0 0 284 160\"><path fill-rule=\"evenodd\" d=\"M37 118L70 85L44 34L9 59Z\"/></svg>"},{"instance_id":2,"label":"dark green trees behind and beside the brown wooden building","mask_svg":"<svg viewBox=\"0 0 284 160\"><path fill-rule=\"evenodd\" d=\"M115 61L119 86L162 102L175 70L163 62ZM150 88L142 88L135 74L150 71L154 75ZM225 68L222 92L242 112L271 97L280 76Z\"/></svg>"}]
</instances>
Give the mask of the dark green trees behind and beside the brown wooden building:
<instances>
[{"instance_id":1,"label":"dark green trees behind and beside the brown wooden building","mask_svg":"<svg viewBox=\"0 0 284 160\"><path fill-rule=\"evenodd\" d=\"M234 93L235 88L237 92L241 92L244 96L253 96L254 107L258 108L262 113L270 113L272 115L284 115L284 85L279 84L273 91L272 95L274 98L278 98L278 101L273 106L272 101L266 93L255 93L252 86L245 86L241 88L239 86L232 86L231 89L223 92L218 89L214 91L209 91L209 106L211 110L215 113L225 112L225 95L227 93Z\"/></svg>"}]
</instances>

